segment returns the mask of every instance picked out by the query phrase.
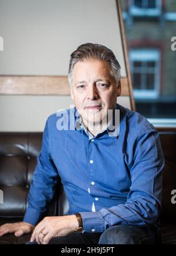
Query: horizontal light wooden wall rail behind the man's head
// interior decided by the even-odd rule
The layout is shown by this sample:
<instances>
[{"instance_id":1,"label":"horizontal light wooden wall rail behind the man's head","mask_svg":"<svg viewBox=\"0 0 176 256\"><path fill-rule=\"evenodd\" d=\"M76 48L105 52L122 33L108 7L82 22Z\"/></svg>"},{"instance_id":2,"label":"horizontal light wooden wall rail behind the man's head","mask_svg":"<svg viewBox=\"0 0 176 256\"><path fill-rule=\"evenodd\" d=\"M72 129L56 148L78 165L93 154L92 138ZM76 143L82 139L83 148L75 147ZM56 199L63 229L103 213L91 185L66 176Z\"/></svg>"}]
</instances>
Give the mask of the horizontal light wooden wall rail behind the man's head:
<instances>
[{"instance_id":1,"label":"horizontal light wooden wall rail behind the man's head","mask_svg":"<svg viewBox=\"0 0 176 256\"><path fill-rule=\"evenodd\" d=\"M129 95L128 80L121 78L123 96ZM0 76L0 94L69 95L67 76Z\"/></svg>"}]
</instances>

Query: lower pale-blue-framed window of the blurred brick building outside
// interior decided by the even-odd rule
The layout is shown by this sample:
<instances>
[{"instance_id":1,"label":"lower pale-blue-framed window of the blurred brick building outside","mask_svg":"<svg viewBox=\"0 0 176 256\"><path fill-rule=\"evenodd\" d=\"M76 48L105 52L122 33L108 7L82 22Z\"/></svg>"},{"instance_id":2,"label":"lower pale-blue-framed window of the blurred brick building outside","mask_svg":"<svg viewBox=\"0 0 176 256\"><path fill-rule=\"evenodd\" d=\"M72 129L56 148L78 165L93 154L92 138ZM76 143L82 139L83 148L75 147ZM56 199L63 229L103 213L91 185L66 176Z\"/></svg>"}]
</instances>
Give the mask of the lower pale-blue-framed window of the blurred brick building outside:
<instances>
[{"instance_id":1,"label":"lower pale-blue-framed window of the blurred brick building outside","mask_svg":"<svg viewBox=\"0 0 176 256\"><path fill-rule=\"evenodd\" d=\"M160 51L158 49L131 49L130 65L134 98L158 98Z\"/></svg>"}]
</instances>

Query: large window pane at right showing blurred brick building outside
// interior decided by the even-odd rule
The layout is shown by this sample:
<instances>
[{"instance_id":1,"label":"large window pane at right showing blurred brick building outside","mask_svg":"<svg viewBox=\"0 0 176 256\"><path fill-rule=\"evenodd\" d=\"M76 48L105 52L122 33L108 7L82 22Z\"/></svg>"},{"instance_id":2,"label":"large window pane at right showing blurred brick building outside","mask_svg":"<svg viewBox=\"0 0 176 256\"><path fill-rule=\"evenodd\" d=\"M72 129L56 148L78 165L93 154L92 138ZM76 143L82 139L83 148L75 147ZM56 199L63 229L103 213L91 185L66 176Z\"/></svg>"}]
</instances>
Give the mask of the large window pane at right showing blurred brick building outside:
<instances>
[{"instance_id":1,"label":"large window pane at right showing blurred brick building outside","mask_svg":"<svg viewBox=\"0 0 176 256\"><path fill-rule=\"evenodd\" d=\"M136 110L147 118L176 119L176 1L121 2ZM132 4L159 9L161 3L163 11L157 15L155 10L131 9Z\"/></svg>"}]
</instances>

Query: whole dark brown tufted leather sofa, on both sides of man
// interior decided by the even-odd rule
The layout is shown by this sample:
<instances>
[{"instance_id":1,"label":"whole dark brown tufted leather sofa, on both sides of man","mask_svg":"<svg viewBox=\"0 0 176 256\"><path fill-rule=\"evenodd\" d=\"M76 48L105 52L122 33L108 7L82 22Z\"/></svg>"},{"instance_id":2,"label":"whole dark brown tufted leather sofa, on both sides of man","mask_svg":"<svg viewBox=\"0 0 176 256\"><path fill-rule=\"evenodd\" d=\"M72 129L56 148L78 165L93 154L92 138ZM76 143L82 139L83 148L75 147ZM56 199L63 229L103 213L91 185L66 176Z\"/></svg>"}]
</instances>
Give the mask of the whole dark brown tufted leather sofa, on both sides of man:
<instances>
[{"instance_id":1,"label":"whole dark brown tufted leather sofa, on both sides of man","mask_svg":"<svg viewBox=\"0 0 176 256\"><path fill-rule=\"evenodd\" d=\"M163 214L161 215L163 244L176 244L176 204L171 203L171 191L176 189L176 132L160 132L165 155L163 179ZM21 221L27 207L32 174L42 142L41 132L0 132L0 189L4 204L0 204L0 225ZM45 213L46 216L65 215L67 200L61 182ZM0 244L23 244L30 234L0 237Z\"/></svg>"}]
</instances>

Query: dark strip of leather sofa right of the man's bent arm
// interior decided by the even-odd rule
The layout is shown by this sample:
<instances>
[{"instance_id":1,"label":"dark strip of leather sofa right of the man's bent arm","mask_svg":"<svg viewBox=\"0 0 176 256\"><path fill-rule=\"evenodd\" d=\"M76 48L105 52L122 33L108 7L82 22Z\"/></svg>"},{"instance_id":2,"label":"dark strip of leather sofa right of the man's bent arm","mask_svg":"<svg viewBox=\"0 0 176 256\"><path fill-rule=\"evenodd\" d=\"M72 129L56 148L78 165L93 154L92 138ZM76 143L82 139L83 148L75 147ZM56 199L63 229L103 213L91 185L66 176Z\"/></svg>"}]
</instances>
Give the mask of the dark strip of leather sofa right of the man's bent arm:
<instances>
[{"instance_id":1,"label":"dark strip of leather sofa right of the man's bent arm","mask_svg":"<svg viewBox=\"0 0 176 256\"><path fill-rule=\"evenodd\" d=\"M176 132L160 132L165 166L163 170L163 213L161 215L163 244L176 244L176 201L171 191L176 189Z\"/></svg>"}]
</instances>

